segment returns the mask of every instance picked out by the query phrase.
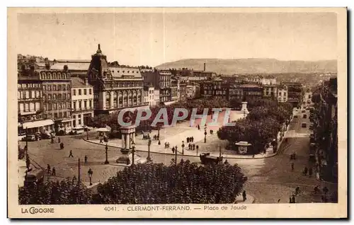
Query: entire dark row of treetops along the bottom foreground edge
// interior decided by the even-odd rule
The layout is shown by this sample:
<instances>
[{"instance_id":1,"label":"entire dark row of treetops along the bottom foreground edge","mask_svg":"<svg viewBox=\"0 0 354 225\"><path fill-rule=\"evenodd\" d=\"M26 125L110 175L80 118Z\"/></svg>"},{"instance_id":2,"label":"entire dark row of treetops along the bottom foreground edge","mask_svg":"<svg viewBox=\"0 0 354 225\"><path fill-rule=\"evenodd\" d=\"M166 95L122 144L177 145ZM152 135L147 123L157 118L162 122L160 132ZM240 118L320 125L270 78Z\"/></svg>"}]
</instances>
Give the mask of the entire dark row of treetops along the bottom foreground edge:
<instances>
[{"instance_id":1,"label":"entire dark row of treetops along the bottom foreground edge","mask_svg":"<svg viewBox=\"0 0 354 225\"><path fill-rule=\"evenodd\" d=\"M241 168L181 160L126 167L92 193L76 178L19 188L19 204L225 204L242 192Z\"/></svg>"}]
</instances>

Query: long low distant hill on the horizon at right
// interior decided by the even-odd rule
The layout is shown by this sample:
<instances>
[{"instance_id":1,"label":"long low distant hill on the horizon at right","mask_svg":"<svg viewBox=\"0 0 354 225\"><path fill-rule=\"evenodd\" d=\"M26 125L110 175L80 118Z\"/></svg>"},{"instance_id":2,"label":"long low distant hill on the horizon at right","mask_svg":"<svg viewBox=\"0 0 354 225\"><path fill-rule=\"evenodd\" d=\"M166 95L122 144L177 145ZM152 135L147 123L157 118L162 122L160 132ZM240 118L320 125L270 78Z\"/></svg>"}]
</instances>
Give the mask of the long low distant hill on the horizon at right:
<instances>
[{"instance_id":1,"label":"long low distant hill on the horizon at right","mask_svg":"<svg viewBox=\"0 0 354 225\"><path fill-rule=\"evenodd\" d=\"M280 61L278 59L181 59L166 62L156 69L188 68L217 74L280 74L280 73L321 73L337 72L336 60L323 61Z\"/></svg>"}]
</instances>

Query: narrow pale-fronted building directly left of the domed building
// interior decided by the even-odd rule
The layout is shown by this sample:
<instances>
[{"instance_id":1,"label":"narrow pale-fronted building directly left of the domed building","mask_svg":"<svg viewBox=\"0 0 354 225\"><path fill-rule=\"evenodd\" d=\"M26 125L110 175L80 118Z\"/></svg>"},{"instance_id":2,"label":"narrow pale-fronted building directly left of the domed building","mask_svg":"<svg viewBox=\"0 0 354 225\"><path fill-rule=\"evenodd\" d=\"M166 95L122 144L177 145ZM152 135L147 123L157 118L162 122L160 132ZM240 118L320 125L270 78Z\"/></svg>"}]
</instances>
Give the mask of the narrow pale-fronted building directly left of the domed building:
<instances>
[{"instance_id":1,"label":"narrow pale-fronted building directly left of the domed building","mask_svg":"<svg viewBox=\"0 0 354 225\"><path fill-rule=\"evenodd\" d=\"M72 77L72 126L83 127L93 117L93 87L87 79Z\"/></svg>"}]
</instances>

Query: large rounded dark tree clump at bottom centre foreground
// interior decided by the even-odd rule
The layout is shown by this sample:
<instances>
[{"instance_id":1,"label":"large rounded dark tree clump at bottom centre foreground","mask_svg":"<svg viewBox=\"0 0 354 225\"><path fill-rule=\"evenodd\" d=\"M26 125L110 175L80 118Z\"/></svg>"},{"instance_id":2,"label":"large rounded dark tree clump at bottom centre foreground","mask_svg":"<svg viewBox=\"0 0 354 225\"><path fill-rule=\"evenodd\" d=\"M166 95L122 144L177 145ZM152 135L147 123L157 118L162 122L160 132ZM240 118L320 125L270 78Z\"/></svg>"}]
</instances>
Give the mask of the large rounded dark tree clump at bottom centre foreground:
<instances>
[{"instance_id":1,"label":"large rounded dark tree clump at bottom centre foreground","mask_svg":"<svg viewBox=\"0 0 354 225\"><path fill-rule=\"evenodd\" d=\"M244 185L239 166L137 164L99 185L93 204L222 204L233 203Z\"/></svg>"}]
</instances>

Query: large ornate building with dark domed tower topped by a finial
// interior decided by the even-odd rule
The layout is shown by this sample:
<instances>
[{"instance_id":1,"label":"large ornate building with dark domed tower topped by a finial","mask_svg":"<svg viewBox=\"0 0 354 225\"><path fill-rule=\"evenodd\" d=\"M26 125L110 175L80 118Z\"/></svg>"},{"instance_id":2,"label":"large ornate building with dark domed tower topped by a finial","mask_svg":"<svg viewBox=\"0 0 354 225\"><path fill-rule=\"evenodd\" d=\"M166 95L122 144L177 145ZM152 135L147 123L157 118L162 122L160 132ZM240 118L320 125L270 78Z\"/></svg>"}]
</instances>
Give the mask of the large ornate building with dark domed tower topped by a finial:
<instances>
[{"instance_id":1,"label":"large ornate building with dark domed tower topped by a finial","mask_svg":"<svg viewBox=\"0 0 354 225\"><path fill-rule=\"evenodd\" d=\"M96 114L147 106L144 105L143 79L139 68L109 66L100 45L91 58L88 79L93 86Z\"/></svg>"}]
</instances>

